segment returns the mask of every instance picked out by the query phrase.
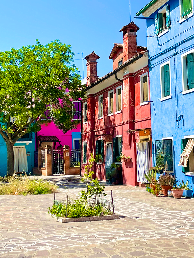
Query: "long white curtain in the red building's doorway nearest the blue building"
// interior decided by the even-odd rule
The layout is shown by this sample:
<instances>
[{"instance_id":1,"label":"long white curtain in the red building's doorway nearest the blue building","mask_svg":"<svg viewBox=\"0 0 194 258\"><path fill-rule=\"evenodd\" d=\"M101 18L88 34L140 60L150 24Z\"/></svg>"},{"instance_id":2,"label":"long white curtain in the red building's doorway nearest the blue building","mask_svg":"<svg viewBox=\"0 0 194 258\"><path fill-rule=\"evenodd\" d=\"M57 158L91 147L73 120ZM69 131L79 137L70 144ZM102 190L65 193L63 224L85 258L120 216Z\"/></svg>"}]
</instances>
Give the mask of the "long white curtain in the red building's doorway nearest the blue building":
<instances>
[{"instance_id":1,"label":"long white curtain in the red building's doorway nearest the blue building","mask_svg":"<svg viewBox=\"0 0 194 258\"><path fill-rule=\"evenodd\" d=\"M148 183L145 179L145 174L149 172L150 168L150 154L149 154L149 140L137 142L137 181L141 183Z\"/></svg>"}]
</instances>

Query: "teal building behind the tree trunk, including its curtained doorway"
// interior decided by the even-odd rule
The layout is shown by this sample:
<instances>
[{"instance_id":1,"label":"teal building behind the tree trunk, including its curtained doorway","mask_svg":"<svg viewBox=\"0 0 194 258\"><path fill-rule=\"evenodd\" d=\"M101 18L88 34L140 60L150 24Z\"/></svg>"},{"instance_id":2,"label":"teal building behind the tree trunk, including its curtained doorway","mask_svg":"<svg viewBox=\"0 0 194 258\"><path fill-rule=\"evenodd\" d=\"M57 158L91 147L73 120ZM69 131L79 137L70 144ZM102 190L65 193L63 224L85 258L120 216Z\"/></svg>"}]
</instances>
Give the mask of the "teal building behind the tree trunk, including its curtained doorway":
<instances>
[{"instance_id":1,"label":"teal building behind the tree trunk, including its curtained doorway","mask_svg":"<svg viewBox=\"0 0 194 258\"><path fill-rule=\"evenodd\" d=\"M35 133L26 133L23 138L14 144L14 163L16 172L22 172L26 168L27 173L32 173L34 167ZM5 176L7 171L7 149L4 139L0 136L0 176ZM26 161L27 159L27 161Z\"/></svg>"}]
</instances>

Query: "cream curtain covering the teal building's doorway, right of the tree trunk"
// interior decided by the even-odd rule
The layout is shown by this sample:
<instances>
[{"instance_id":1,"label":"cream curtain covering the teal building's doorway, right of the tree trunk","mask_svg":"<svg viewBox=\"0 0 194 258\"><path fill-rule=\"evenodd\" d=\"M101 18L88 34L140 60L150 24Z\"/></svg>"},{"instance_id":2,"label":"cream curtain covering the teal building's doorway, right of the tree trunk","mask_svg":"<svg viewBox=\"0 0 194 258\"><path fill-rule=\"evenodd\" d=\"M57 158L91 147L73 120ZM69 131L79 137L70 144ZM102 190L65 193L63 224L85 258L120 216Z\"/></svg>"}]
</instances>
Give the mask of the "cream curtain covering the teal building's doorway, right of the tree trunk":
<instances>
[{"instance_id":1,"label":"cream curtain covering the teal building's doorway, right of the tree trunk","mask_svg":"<svg viewBox=\"0 0 194 258\"><path fill-rule=\"evenodd\" d=\"M14 156L14 170L16 173L18 172L28 172L28 162L27 162L27 155L26 149L24 147L14 147L13 148L13 156Z\"/></svg>"}]
</instances>

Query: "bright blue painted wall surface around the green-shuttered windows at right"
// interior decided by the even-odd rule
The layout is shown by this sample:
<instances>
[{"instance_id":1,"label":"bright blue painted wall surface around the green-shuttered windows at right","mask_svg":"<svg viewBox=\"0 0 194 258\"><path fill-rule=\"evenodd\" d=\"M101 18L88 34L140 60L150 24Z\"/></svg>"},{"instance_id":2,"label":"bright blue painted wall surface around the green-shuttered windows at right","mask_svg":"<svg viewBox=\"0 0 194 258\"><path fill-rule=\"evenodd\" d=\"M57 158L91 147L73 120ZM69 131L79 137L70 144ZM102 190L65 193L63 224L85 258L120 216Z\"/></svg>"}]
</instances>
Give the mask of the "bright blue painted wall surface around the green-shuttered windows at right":
<instances>
[{"instance_id":1,"label":"bright blue painted wall surface around the green-shuttered windows at right","mask_svg":"<svg viewBox=\"0 0 194 258\"><path fill-rule=\"evenodd\" d=\"M175 174L178 180L183 179L186 182L189 179L194 191L194 176L186 176L182 172L182 166L178 166L181 154L181 139L185 135L194 135L194 92L182 94L181 66L181 54L194 49L194 17L192 16L180 23L179 0L168 1L163 6L166 4L170 7L171 20L171 28L166 34L160 37L153 34L155 31L155 15L162 6L150 15L150 18L153 19L147 19L150 96L151 101L153 101L151 103L152 141L155 145L155 140L173 137ZM160 65L169 60L171 99L160 101ZM183 115L184 125L182 119L177 121L179 115ZM155 159L155 157L153 158Z\"/></svg>"}]
</instances>

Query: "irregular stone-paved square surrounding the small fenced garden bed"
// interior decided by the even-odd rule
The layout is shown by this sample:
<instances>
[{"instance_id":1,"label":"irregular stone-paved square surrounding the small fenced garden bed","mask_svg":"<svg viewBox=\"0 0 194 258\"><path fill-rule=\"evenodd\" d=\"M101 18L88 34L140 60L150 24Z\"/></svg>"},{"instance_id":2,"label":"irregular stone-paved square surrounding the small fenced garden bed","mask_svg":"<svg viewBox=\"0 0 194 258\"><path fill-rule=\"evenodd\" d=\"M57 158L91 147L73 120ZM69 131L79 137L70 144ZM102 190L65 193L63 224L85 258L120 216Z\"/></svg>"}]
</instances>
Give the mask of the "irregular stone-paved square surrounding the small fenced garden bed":
<instances>
[{"instance_id":1,"label":"irregular stone-paved square surrounding the small fenced garden bed","mask_svg":"<svg viewBox=\"0 0 194 258\"><path fill-rule=\"evenodd\" d=\"M58 200L84 188L78 176L49 179L60 186ZM1 196L0 257L194 257L193 198L157 198L145 189L104 184L107 199L113 191L119 220L60 223L47 213L53 195Z\"/></svg>"}]
</instances>

